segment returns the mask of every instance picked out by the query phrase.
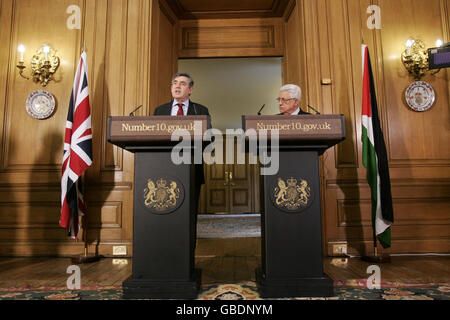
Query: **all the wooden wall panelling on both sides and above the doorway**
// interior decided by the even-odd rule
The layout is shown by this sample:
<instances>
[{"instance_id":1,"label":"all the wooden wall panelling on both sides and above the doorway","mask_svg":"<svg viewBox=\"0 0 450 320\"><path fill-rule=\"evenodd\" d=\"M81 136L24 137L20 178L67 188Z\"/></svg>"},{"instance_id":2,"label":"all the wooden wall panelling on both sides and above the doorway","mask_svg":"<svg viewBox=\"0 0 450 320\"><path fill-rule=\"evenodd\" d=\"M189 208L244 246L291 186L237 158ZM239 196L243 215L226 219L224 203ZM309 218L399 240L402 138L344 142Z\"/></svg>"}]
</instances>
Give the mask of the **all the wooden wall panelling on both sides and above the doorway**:
<instances>
[{"instance_id":1,"label":"all the wooden wall panelling on both sides and above the doorway","mask_svg":"<svg viewBox=\"0 0 450 320\"><path fill-rule=\"evenodd\" d=\"M435 88L437 101L432 110L416 114L403 101L412 79L406 76L399 56L410 36L430 45L439 37L449 40L450 0L400 1L395 5L387 0L290 1L289 13L277 19L177 21L163 1L3 0L0 41L5 49L0 58L7 63L0 67L0 255L83 251L83 244L69 240L57 224L64 124L83 41L88 49L94 132L94 165L85 180L91 252L98 249L110 255L117 244L125 244L132 252L134 156L106 142L107 117L128 114L138 104L146 107L139 114L152 114L157 105L170 100L170 77L177 70L178 55L284 54L283 80L304 88L302 103L317 106L323 113L344 112L353 130L348 147L333 148L323 158L325 252L343 241L353 253L371 250L370 194L359 156L361 37L371 50L391 164L396 222L393 247L387 252L448 252L450 151L445 147L450 130L442 129L450 123L449 71L425 77ZM81 30L66 28L65 9L70 4L82 9ZM382 9L381 30L365 26L370 4ZM398 15L399 5L403 16ZM54 19L42 24L40 17L49 13ZM248 27L261 35L254 48L242 46L245 35L234 39ZM184 28L194 30L187 42L183 42ZM222 40L228 41L225 48L215 39L208 42L210 34L204 31L211 28L226 29L222 33ZM268 37L271 29L273 42ZM27 46L28 63L46 41L62 56L57 81L46 88L56 96L58 107L50 119L37 121L26 113L24 101L29 92L41 87L18 75L16 48L19 42ZM183 43L193 46L184 49ZM332 84L322 85L327 78ZM257 166L254 169L258 171Z\"/></svg>"}]
</instances>

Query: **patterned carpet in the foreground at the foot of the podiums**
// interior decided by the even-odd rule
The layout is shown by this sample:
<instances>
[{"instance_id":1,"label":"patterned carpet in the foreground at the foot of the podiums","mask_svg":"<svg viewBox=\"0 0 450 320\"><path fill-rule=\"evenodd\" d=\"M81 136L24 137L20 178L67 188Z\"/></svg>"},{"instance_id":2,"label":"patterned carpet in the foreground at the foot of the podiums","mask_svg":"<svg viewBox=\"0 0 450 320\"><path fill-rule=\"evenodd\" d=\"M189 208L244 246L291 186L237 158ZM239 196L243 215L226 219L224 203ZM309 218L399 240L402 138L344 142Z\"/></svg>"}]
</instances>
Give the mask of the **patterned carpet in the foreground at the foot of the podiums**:
<instances>
[{"instance_id":1,"label":"patterned carpet in the foreground at the foot of the podiums","mask_svg":"<svg viewBox=\"0 0 450 320\"><path fill-rule=\"evenodd\" d=\"M450 283L404 284L382 283L381 289L367 289L366 280L335 281L334 297L285 298L279 300L450 300ZM0 300L122 300L122 288L86 287L67 290L63 287L0 288ZM263 300L256 283L202 285L197 300ZM274 299L270 299L274 300Z\"/></svg>"}]
</instances>

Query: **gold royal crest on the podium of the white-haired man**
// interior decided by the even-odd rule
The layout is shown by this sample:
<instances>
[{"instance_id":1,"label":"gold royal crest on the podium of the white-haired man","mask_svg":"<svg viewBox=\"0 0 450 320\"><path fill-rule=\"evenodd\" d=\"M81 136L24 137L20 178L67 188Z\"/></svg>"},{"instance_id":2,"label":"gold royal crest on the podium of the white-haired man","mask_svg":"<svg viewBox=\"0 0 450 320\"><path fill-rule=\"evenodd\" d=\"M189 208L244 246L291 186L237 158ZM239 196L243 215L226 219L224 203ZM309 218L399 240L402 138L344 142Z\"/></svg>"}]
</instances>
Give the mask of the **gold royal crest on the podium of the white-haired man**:
<instances>
[{"instance_id":1,"label":"gold royal crest on the podium of the white-haired man","mask_svg":"<svg viewBox=\"0 0 450 320\"><path fill-rule=\"evenodd\" d=\"M272 188L271 199L278 209L299 213L313 202L314 197L308 181L289 176L287 179L278 178Z\"/></svg>"}]
</instances>

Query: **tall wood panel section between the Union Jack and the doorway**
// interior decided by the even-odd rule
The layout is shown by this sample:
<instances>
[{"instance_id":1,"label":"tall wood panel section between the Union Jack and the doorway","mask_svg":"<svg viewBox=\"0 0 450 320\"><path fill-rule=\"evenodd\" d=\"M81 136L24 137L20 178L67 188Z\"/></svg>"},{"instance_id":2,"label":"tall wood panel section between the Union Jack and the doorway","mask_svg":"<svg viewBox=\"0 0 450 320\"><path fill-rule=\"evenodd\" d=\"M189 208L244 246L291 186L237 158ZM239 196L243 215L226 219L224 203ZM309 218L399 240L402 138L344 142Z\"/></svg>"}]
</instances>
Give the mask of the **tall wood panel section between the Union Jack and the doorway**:
<instances>
[{"instance_id":1,"label":"tall wood panel section between the Union Jack and the doorway","mask_svg":"<svg viewBox=\"0 0 450 320\"><path fill-rule=\"evenodd\" d=\"M90 241L101 243L101 250L111 254L112 244L127 245L132 252L134 156L110 145L106 139L107 117L127 115L137 105L144 104L149 85L149 42L151 6L148 1L103 1L95 9L98 20L92 27L101 28L99 46L98 110L102 110L102 167L91 181L88 204L93 207L89 221ZM103 92L100 91L103 88ZM141 113L142 110L139 111ZM103 203L103 205L102 205ZM111 207L112 204L112 207ZM117 222L104 223L115 209ZM120 210L119 210L120 209ZM120 214L119 214L120 213ZM108 220L106 220L108 221Z\"/></svg>"}]
</instances>

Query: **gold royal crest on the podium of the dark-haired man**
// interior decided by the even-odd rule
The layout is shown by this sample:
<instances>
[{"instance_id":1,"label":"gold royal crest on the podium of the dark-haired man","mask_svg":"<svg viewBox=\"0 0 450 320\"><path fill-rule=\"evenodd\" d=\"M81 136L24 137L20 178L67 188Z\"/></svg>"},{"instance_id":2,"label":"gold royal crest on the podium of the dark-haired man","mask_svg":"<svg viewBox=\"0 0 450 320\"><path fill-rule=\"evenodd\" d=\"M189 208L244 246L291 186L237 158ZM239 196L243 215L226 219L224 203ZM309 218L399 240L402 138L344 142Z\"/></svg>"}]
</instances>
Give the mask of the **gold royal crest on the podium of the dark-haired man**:
<instances>
[{"instance_id":1,"label":"gold royal crest on the podium of the dark-haired man","mask_svg":"<svg viewBox=\"0 0 450 320\"><path fill-rule=\"evenodd\" d=\"M184 188L174 178L148 179L144 189L144 205L155 214L169 214L180 207L184 200Z\"/></svg>"}]
</instances>

